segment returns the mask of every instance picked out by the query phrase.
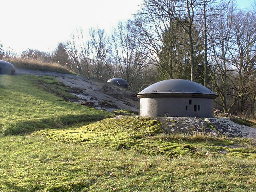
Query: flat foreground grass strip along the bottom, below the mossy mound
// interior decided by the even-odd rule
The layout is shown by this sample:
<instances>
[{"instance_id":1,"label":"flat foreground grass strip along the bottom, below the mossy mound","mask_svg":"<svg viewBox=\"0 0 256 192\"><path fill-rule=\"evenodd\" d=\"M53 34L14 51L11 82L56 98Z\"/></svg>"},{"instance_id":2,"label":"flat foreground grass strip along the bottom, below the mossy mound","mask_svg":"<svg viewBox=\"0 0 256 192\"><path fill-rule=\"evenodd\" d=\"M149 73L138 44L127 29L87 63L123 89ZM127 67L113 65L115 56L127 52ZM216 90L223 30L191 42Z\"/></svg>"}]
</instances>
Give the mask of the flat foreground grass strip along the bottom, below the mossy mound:
<instances>
[{"instance_id":1,"label":"flat foreground grass strip along the bottom, below the mossy mound","mask_svg":"<svg viewBox=\"0 0 256 192\"><path fill-rule=\"evenodd\" d=\"M1 192L252 192L256 160L210 151L170 158L38 136L0 139Z\"/></svg>"}]
</instances>

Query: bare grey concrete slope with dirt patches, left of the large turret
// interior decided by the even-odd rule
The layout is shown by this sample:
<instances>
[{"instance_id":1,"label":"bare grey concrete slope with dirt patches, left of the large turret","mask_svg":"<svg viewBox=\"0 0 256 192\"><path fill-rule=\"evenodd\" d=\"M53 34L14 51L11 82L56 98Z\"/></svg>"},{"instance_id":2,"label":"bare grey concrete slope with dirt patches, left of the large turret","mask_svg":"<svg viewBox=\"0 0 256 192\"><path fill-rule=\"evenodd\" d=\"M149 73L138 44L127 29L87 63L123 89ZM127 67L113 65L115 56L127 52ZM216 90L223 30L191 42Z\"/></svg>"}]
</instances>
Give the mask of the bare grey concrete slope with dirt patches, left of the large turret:
<instances>
[{"instance_id":1,"label":"bare grey concrete slope with dirt patches, left of the large turret","mask_svg":"<svg viewBox=\"0 0 256 192\"><path fill-rule=\"evenodd\" d=\"M134 96L134 92L125 90L112 83L78 75L22 68L16 68L16 74L54 76L57 80L72 88L73 91L71 90L70 93L77 96L78 99L70 99L71 101L80 102L86 106L92 106L107 111L118 109L131 110L134 112L139 111L138 98Z\"/></svg>"}]
</instances>

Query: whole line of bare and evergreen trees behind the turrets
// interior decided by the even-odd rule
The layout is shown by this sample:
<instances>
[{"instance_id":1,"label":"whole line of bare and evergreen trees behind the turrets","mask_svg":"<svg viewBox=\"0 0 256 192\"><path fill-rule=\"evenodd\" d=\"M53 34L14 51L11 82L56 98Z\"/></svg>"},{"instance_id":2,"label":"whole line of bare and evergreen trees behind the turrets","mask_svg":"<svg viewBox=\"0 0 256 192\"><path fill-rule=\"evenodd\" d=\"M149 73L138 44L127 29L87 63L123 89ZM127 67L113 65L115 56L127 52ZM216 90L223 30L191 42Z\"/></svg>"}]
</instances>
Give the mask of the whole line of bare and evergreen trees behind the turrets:
<instances>
[{"instance_id":1,"label":"whole line of bare and evergreen trees behind the turrets","mask_svg":"<svg viewBox=\"0 0 256 192\"><path fill-rule=\"evenodd\" d=\"M111 34L76 30L52 53L30 49L20 57L58 62L90 78L124 78L136 92L159 80L192 80L219 95L219 110L255 118L256 2L252 6L144 0L134 18L119 22Z\"/></svg>"}]
</instances>

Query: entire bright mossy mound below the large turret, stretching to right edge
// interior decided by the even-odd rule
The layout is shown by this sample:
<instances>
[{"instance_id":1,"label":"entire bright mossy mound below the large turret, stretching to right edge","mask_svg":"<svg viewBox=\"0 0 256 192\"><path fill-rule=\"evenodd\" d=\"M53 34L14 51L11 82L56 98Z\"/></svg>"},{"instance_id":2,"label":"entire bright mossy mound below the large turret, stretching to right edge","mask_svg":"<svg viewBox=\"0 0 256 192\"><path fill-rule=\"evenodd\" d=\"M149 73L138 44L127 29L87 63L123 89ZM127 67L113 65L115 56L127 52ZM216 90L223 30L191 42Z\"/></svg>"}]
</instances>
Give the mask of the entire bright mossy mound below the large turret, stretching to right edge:
<instances>
[{"instance_id":1,"label":"entire bright mossy mound below the large turret, stretching to right edge","mask_svg":"<svg viewBox=\"0 0 256 192\"><path fill-rule=\"evenodd\" d=\"M164 154L170 157L205 156L209 151L215 154L223 151L225 154L230 154L234 152L230 145L244 142L244 139L220 138L210 134L166 134L161 125L161 122L153 118L118 116L77 129L40 130L33 135L42 135L62 142L79 143L86 147L135 150L141 154ZM247 146L243 148L249 149ZM245 153L247 157L255 155L251 150Z\"/></svg>"}]
</instances>

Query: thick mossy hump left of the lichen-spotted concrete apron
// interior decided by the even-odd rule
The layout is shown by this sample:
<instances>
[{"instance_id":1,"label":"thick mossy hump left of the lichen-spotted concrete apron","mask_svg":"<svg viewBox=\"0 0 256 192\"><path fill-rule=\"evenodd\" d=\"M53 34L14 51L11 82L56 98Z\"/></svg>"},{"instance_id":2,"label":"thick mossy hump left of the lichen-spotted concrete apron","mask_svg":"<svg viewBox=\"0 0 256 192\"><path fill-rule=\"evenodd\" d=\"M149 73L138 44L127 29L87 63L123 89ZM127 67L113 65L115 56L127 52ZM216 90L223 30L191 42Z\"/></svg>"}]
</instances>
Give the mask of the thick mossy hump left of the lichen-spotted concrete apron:
<instances>
[{"instance_id":1,"label":"thick mossy hump left of the lichen-spotted concrete apron","mask_svg":"<svg viewBox=\"0 0 256 192\"><path fill-rule=\"evenodd\" d=\"M163 132L160 124L147 117L108 118L76 130L42 130L35 134L63 142L84 142L90 146L121 149L133 148L137 140Z\"/></svg>"}]
</instances>

